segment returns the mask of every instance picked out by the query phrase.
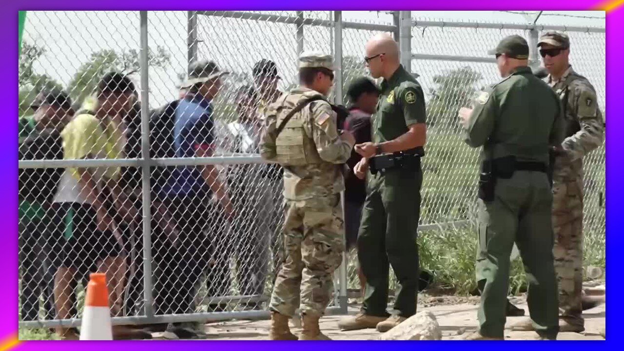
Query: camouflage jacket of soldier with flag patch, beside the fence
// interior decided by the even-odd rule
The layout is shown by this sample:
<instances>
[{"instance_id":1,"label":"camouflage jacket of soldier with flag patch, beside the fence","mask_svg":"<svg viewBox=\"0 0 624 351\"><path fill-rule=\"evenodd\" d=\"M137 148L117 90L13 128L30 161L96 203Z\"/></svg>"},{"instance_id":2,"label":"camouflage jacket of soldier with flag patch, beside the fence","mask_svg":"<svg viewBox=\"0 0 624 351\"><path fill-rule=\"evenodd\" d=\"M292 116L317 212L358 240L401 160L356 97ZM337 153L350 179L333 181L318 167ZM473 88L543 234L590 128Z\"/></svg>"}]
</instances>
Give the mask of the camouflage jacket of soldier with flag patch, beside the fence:
<instances>
[{"instance_id":1,"label":"camouflage jacket of soldier with flag patch, beside the fence","mask_svg":"<svg viewBox=\"0 0 624 351\"><path fill-rule=\"evenodd\" d=\"M260 141L260 155L263 159L273 161L276 157L275 131L283 117L303 99L318 95L316 91L298 87L268 107ZM304 122L306 137L314 142L321 161L303 166L284 166L284 197L288 200L305 200L338 194L344 190L341 164L351 156L353 145L338 136L336 114L329 103L311 102L292 119Z\"/></svg>"}]
</instances>

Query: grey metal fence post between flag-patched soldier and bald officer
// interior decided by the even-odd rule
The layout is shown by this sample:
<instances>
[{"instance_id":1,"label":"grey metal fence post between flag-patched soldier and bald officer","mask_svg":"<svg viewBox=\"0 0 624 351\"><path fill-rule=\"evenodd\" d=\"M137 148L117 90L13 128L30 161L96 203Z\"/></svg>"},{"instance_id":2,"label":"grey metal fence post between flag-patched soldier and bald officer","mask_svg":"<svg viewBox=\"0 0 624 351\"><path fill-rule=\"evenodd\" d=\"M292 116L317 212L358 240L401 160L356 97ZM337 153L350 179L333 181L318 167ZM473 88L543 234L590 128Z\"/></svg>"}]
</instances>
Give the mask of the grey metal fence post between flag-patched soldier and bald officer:
<instances>
[{"instance_id":1,"label":"grey metal fence post between flag-patched soldier and bald officer","mask_svg":"<svg viewBox=\"0 0 624 351\"><path fill-rule=\"evenodd\" d=\"M334 11L334 104L343 102L343 12ZM344 214L344 192L341 194L341 204ZM343 314L347 313L347 265L348 257L343 252L343 263L338 267L340 291L338 304Z\"/></svg>"}]
</instances>

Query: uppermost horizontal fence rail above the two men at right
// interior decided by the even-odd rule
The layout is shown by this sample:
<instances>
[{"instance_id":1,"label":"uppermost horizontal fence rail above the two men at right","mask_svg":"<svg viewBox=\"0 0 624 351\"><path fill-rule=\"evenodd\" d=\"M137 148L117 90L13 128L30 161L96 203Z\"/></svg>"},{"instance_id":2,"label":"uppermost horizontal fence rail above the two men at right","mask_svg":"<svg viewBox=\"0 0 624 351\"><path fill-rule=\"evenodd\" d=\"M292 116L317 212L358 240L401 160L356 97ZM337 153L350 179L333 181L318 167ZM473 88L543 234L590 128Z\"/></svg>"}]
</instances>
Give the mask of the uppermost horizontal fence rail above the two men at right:
<instances>
[{"instance_id":1,"label":"uppermost horizontal fence rail above the two men at right","mask_svg":"<svg viewBox=\"0 0 624 351\"><path fill-rule=\"evenodd\" d=\"M530 31L564 31L564 32L586 32L604 33L604 27L577 27L577 26L548 26L542 24L517 24L517 23L489 23L489 22L454 22L454 21L421 21L412 19L413 27L447 27L447 28L484 28L484 29L522 29Z\"/></svg>"}]
</instances>

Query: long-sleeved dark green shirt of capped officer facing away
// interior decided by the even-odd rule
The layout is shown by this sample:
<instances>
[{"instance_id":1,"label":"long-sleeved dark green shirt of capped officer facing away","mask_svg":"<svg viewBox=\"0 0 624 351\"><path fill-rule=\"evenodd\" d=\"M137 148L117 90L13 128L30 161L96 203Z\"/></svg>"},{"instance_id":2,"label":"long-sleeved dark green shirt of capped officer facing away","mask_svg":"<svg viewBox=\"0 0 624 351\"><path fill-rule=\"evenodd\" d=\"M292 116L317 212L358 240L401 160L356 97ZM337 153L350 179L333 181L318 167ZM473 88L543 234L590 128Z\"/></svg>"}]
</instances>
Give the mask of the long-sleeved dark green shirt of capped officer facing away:
<instances>
[{"instance_id":1,"label":"long-sleeved dark green shirt of capped officer facing away","mask_svg":"<svg viewBox=\"0 0 624 351\"><path fill-rule=\"evenodd\" d=\"M484 146L482 159L516 156L548 162L548 149L563 140L563 119L555 93L532 74L517 67L475 99L465 127L466 143Z\"/></svg>"}]
</instances>

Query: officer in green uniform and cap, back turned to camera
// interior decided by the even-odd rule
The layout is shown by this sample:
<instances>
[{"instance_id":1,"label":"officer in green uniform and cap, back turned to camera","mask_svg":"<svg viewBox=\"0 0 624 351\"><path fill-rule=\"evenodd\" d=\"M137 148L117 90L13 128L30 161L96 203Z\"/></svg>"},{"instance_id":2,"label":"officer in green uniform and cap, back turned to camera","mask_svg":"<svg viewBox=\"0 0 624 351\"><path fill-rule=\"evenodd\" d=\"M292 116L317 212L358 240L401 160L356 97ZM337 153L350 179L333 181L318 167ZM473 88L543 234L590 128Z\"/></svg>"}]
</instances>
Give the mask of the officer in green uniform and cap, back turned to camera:
<instances>
[{"instance_id":1,"label":"officer in green uniform and cap, back turned to camera","mask_svg":"<svg viewBox=\"0 0 624 351\"><path fill-rule=\"evenodd\" d=\"M540 339L558 333L553 266L552 192L548 150L563 140L557 96L527 66L529 46L508 36L489 52L502 81L462 107L470 147L483 146L479 176L479 249L476 279L481 294L479 327L467 340L504 340L509 257L514 242L529 280L529 313Z\"/></svg>"}]
</instances>

